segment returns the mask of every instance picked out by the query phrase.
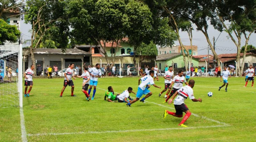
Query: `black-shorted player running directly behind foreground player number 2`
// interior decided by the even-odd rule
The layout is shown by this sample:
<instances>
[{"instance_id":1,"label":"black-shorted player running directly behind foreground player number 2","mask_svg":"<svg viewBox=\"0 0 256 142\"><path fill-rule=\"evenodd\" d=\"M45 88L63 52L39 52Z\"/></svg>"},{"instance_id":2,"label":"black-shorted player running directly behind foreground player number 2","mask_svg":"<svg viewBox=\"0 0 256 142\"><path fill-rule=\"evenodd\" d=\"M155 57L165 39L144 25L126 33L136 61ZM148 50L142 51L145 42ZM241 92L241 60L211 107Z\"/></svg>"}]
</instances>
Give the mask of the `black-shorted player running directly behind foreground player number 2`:
<instances>
[{"instance_id":1,"label":"black-shorted player running directly behind foreground player number 2","mask_svg":"<svg viewBox=\"0 0 256 142\"><path fill-rule=\"evenodd\" d=\"M178 72L178 75L176 75L173 79L172 79L172 83L170 85L170 87L172 87L172 84L174 83L173 87L172 87L172 91L171 93L166 96L166 100L164 101L164 103L166 103L171 97L172 95L179 90L182 86L183 86L183 82L188 85L188 82L185 80L184 76L183 76L183 71L180 70ZM164 96L165 97L165 96Z\"/></svg>"}]
</instances>

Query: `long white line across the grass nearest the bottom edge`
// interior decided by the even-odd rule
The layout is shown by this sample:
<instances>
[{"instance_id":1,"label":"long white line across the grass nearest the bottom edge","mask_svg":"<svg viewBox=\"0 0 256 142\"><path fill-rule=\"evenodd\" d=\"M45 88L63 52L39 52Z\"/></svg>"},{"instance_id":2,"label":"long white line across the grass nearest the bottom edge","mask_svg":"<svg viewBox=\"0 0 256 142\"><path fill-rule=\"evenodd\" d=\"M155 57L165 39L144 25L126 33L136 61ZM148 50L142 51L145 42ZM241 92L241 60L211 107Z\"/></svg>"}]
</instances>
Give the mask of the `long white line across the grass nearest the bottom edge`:
<instances>
[{"instance_id":1,"label":"long white line across the grass nearest the bottom edge","mask_svg":"<svg viewBox=\"0 0 256 142\"><path fill-rule=\"evenodd\" d=\"M160 128L160 129L119 130L119 131L89 131L89 132L82 131L82 132L70 132L70 133L38 133L38 134L28 134L28 136L99 134L99 133L119 133L119 132L138 132L138 131L162 131L162 130L199 129L199 128L214 128L214 127L227 127L227 125L186 127L186 128L179 127L179 128Z\"/></svg>"}]
</instances>

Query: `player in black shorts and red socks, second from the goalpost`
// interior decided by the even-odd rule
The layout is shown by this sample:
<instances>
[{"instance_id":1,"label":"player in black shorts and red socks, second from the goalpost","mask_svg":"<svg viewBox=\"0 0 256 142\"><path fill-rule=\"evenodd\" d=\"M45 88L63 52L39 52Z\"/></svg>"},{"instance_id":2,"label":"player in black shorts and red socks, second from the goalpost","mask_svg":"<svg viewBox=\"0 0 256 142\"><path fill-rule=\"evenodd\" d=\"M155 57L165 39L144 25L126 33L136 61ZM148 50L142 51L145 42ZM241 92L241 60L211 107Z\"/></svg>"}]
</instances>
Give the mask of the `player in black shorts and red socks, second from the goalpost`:
<instances>
[{"instance_id":1,"label":"player in black shorts and red socks, second from the goalpost","mask_svg":"<svg viewBox=\"0 0 256 142\"><path fill-rule=\"evenodd\" d=\"M69 64L69 67L67 68L67 70L65 71L64 73L64 84L63 84L63 88L61 90L61 93L60 93L60 97L62 97L62 94L64 92L64 90L66 89L67 86L71 86L71 97L76 97L76 95L74 95L74 83L73 83L73 80L72 80L72 77L74 79L76 79L74 76L73 76L73 68L74 68L74 64L71 63Z\"/></svg>"}]
</instances>

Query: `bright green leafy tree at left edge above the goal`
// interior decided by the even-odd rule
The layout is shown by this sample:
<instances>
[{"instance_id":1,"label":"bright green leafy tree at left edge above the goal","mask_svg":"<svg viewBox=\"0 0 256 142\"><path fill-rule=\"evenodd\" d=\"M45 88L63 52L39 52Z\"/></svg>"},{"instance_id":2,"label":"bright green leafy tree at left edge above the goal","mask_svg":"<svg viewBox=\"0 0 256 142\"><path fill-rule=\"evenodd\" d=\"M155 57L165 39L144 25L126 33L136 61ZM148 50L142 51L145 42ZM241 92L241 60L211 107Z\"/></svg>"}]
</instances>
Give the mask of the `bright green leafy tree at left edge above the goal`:
<instances>
[{"instance_id":1,"label":"bright green leafy tree at left edge above the goal","mask_svg":"<svg viewBox=\"0 0 256 142\"><path fill-rule=\"evenodd\" d=\"M17 42L20 37L20 31L17 26L9 25L0 19L0 45L4 45L5 41Z\"/></svg>"}]
</instances>

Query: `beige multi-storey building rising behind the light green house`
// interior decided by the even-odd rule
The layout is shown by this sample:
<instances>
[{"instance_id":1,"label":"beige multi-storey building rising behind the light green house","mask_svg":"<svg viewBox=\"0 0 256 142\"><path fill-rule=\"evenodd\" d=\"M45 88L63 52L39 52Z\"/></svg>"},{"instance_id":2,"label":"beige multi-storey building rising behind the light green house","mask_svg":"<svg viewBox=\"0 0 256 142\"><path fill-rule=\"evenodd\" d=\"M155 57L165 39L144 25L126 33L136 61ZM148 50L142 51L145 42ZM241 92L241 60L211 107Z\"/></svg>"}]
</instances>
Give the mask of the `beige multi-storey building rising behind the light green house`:
<instances>
[{"instance_id":1,"label":"beige multi-storey building rising behind the light green house","mask_svg":"<svg viewBox=\"0 0 256 142\"><path fill-rule=\"evenodd\" d=\"M189 55L192 54L192 51L193 51L193 56L197 56L197 46L191 46L190 45L184 45L184 48L188 49L188 52L189 52ZM185 51L185 49L184 49ZM167 54L167 53L181 53L181 47L180 45L178 46L172 46L172 47L160 47L158 49L158 55L161 55L161 54ZM186 53L186 51L185 51Z\"/></svg>"}]
</instances>

